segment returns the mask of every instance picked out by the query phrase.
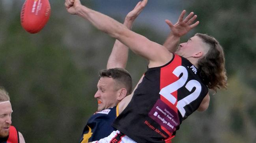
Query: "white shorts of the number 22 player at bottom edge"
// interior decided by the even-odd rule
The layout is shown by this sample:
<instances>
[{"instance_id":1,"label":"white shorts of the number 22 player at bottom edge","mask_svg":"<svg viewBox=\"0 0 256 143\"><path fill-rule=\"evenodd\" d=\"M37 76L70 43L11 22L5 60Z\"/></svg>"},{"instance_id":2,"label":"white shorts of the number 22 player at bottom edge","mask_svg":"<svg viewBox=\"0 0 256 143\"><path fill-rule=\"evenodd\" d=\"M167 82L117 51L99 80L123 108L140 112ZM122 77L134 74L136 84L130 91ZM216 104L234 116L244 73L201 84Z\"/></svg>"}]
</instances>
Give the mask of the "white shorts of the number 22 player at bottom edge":
<instances>
[{"instance_id":1,"label":"white shorts of the number 22 player at bottom edge","mask_svg":"<svg viewBox=\"0 0 256 143\"><path fill-rule=\"evenodd\" d=\"M122 134L119 130L117 130L117 131L113 131L106 138L100 139L99 141L93 141L92 143L137 143L137 142L129 138L125 134Z\"/></svg>"}]
</instances>

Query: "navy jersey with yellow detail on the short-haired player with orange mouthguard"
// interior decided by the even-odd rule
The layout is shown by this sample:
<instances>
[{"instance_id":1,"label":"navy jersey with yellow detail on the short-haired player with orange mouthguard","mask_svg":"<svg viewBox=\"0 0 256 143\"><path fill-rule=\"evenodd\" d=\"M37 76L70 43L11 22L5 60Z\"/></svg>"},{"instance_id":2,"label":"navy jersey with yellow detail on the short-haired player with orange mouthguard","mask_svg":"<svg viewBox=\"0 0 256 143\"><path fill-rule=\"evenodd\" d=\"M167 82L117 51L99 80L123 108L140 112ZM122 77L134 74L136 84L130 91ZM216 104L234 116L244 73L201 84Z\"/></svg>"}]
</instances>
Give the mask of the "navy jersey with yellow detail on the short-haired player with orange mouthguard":
<instances>
[{"instance_id":1,"label":"navy jersey with yellow detail on the short-haired player with orange mouthguard","mask_svg":"<svg viewBox=\"0 0 256 143\"><path fill-rule=\"evenodd\" d=\"M116 109L117 107L112 107L93 114L84 127L80 143L98 141L110 135L114 131L111 125L118 116Z\"/></svg>"}]
</instances>

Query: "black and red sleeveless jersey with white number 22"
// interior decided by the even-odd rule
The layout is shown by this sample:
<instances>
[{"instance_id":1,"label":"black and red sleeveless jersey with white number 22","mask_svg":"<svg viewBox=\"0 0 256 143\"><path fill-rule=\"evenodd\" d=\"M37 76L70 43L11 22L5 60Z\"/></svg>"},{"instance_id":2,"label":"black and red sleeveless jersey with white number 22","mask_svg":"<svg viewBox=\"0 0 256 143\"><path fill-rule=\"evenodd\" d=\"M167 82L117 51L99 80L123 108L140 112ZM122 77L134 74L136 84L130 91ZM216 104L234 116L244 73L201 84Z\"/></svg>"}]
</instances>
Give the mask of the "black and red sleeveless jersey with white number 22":
<instances>
[{"instance_id":1,"label":"black and red sleeveless jersey with white number 22","mask_svg":"<svg viewBox=\"0 0 256 143\"><path fill-rule=\"evenodd\" d=\"M149 68L113 127L138 143L170 143L181 122L208 93L189 60L178 55Z\"/></svg>"}]
</instances>

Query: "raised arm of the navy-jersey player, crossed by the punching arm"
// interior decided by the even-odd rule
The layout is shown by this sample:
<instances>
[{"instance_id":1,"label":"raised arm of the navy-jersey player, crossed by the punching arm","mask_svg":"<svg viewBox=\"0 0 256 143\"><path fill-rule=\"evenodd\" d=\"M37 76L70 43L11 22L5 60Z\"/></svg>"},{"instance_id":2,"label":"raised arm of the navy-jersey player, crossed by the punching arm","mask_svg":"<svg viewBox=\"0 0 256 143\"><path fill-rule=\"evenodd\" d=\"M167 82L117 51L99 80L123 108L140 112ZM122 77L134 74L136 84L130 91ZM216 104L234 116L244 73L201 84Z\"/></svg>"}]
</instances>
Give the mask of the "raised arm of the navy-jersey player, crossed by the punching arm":
<instances>
[{"instance_id":1,"label":"raised arm of the navy-jersey player, crossed by the punching arm","mask_svg":"<svg viewBox=\"0 0 256 143\"><path fill-rule=\"evenodd\" d=\"M123 25L125 25L128 29L132 29L133 22L140 14L142 9L145 7L146 3L138 2L135 8L130 11L125 17ZM119 40L116 40L114 43L114 47L112 52L108 58L107 69L120 67L125 69L127 59L128 59L129 48L121 43Z\"/></svg>"}]
</instances>

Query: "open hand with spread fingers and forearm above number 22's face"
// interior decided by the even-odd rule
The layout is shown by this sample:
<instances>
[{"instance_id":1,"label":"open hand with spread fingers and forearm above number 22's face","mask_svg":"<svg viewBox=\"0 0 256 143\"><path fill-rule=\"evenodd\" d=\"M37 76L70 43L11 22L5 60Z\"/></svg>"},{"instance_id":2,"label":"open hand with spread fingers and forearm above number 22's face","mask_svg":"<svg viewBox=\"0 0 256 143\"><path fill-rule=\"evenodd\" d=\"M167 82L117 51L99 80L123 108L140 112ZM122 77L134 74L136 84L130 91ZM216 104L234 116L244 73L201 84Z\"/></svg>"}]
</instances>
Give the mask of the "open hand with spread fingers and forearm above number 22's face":
<instances>
[{"instance_id":1,"label":"open hand with spread fingers and forearm above number 22's face","mask_svg":"<svg viewBox=\"0 0 256 143\"><path fill-rule=\"evenodd\" d=\"M174 25L172 24L172 22L170 22L170 20L165 20L166 24L169 25L171 31L163 45L170 52L175 52L177 50L179 39L181 36L187 34L189 31L191 31L191 29L199 24L199 21L193 23L197 17L197 15L194 15L193 12L189 13L189 15L183 20L185 13L185 10L181 12L178 21Z\"/></svg>"}]
</instances>

